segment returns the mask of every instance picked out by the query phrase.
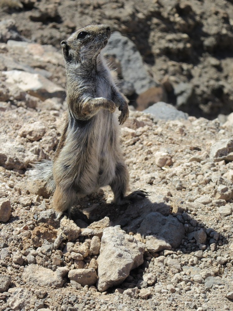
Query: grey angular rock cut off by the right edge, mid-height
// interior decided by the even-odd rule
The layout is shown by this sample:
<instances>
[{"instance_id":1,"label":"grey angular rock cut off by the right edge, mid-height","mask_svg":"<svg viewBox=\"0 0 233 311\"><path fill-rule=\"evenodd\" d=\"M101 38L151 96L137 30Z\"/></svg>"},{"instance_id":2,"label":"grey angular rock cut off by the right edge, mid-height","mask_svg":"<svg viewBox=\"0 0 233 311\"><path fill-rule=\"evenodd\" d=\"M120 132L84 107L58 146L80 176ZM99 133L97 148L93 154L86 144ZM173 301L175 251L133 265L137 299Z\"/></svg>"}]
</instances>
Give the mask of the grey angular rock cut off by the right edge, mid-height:
<instances>
[{"instance_id":1,"label":"grey angular rock cut off by the right edge, mid-height","mask_svg":"<svg viewBox=\"0 0 233 311\"><path fill-rule=\"evenodd\" d=\"M210 159L214 162L233 160L233 139L222 139L213 144L210 149Z\"/></svg>"}]
</instances>

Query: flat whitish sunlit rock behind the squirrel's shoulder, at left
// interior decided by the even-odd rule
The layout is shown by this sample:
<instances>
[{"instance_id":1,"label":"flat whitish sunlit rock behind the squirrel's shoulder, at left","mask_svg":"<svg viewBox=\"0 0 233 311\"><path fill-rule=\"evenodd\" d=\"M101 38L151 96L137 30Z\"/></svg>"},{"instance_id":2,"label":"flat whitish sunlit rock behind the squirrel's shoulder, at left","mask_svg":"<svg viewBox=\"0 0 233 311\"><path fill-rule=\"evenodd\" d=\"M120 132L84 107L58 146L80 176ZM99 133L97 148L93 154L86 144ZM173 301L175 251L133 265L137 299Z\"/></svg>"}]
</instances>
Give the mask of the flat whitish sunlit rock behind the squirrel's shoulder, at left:
<instances>
[{"instance_id":1,"label":"flat whitish sunlit rock behind the squirrel's shoulder, at left","mask_svg":"<svg viewBox=\"0 0 233 311\"><path fill-rule=\"evenodd\" d=\"M52 97L64 97L65 93L62 87L57 86L40 74L21 70L9 70L2 73L7 77L6 82L9 85L16 85L22 91L39 97L41 100Z\"/></svg>"}]
</instances>

